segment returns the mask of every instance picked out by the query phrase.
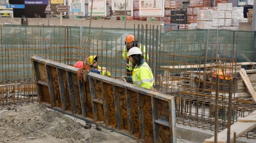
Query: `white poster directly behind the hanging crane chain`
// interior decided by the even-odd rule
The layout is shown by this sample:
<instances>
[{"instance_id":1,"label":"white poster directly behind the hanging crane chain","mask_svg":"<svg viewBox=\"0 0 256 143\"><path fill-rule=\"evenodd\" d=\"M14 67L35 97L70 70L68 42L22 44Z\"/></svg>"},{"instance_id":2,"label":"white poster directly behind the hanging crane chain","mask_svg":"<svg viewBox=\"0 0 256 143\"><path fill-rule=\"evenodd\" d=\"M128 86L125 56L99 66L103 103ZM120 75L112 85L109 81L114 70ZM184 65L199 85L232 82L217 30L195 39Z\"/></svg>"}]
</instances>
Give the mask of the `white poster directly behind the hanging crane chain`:
<instances>
[{"instance_id":1,"label":"white poster directly behind the hanging crane chain","mask_svg":"<svg viewBox=\"0 0 256 143\"><path fill-rule=\"evenodd\" d=\"M89 0L88 4L88 14L91 14L91 8L92 8L92 16L106 16L106 0Z\"/></svg>"}]
</instances>

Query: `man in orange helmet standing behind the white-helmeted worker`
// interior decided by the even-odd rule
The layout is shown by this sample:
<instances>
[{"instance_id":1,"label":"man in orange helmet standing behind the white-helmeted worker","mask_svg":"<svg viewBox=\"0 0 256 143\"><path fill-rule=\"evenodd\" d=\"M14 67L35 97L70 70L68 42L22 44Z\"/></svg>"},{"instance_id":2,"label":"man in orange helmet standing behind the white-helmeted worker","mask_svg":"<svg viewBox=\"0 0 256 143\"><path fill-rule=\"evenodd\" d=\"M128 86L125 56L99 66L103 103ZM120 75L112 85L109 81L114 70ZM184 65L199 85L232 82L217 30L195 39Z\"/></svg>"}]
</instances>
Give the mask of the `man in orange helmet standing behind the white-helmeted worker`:
<instances>
[{"instance_id":1,"label":"man in orange helmet standing behind the white-helmeted worker","mask_svg":"<svg viewBox=\"0 0 256 143\"><path fill-rule=\"evenodd\" d=\"M126 75L127 76L132 75L132 63L129 61L129 58L128 58L128 52L132 47L139 47L139 49L141 51L143 51L143 53L146 53L146 47L144 45L141 45L140 43L138 43L138 41L136 41L134 39L133 35L130 34L125 37L125 47L124 47L122 56L126 60ZM145 55L144 55L144 59L146 59ZM148 59L149 58L147 56L147 60Z\"/></svg>"}]
</instances>

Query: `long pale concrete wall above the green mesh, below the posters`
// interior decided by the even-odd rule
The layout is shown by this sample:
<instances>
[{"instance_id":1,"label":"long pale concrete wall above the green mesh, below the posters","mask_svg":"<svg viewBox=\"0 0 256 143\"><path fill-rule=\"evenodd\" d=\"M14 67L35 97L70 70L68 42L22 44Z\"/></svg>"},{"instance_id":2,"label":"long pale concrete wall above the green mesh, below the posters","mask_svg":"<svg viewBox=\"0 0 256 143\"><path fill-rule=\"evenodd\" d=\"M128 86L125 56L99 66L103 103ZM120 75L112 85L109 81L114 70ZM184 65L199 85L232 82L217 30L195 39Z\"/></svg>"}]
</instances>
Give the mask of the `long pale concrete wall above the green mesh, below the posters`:
<instances>
[{"instance_id":1,"label":"long pale concrete wall above the green mesh, below the posters","mask_svg":"<svg viewBox=\"0 0 256 143\"><path fill-rule=\"evenodd\" d=\"M12 24L21 24L22 18L0 18L0 23L12 23ZM28 25L38 25L38 23L44 23L44 25L48 25L48 18L27 18ZM61 24L62 23L62 24ZM68 25L68 26L86 26L89 27L90 20L86 19L49 19L49 24L57 25ZM136 20L127 20L126 28L134 29L138 27L138 24L146 25L148 24L148 28L150 25L160 26L164 25L164 21L136 21ZM92 20L91 27L96 28L125 28L124 20Z\"/></svg>"}]
</instances>

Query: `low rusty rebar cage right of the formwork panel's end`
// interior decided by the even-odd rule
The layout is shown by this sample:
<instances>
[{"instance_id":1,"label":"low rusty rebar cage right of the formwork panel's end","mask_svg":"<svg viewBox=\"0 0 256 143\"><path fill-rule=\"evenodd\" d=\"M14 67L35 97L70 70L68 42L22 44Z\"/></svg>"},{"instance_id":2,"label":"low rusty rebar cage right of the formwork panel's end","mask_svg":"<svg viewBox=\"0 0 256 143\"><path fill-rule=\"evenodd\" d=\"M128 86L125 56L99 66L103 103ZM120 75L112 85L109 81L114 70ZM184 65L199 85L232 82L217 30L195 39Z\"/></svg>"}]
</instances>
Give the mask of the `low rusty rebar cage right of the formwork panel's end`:
<instances>
[{"instance_id":1,"label":"low rusty rebar cage right of the formwork panel's end","mask_svg":"<svg viewBox=\"0 0 256 143\"><path fill-rule=\"evenodd\" d=\"M166 92L165 94L172 94L175 97L176 102L176 122L183 125L195 126L197 128L208 129L211 131L215 130L214 124L216 121L215 98L194 96L180 94L178 92L173 93ZM227 108L228 101L225 98L219 99L219 132L227 128ZM256 103L248 103L248 101L235 100L232 101L232 119L231 124L237 122L241 117L255 111ZM255 139L256 130L248 132L243 135L248 139Z\"/></svg>"}]
</instances>

